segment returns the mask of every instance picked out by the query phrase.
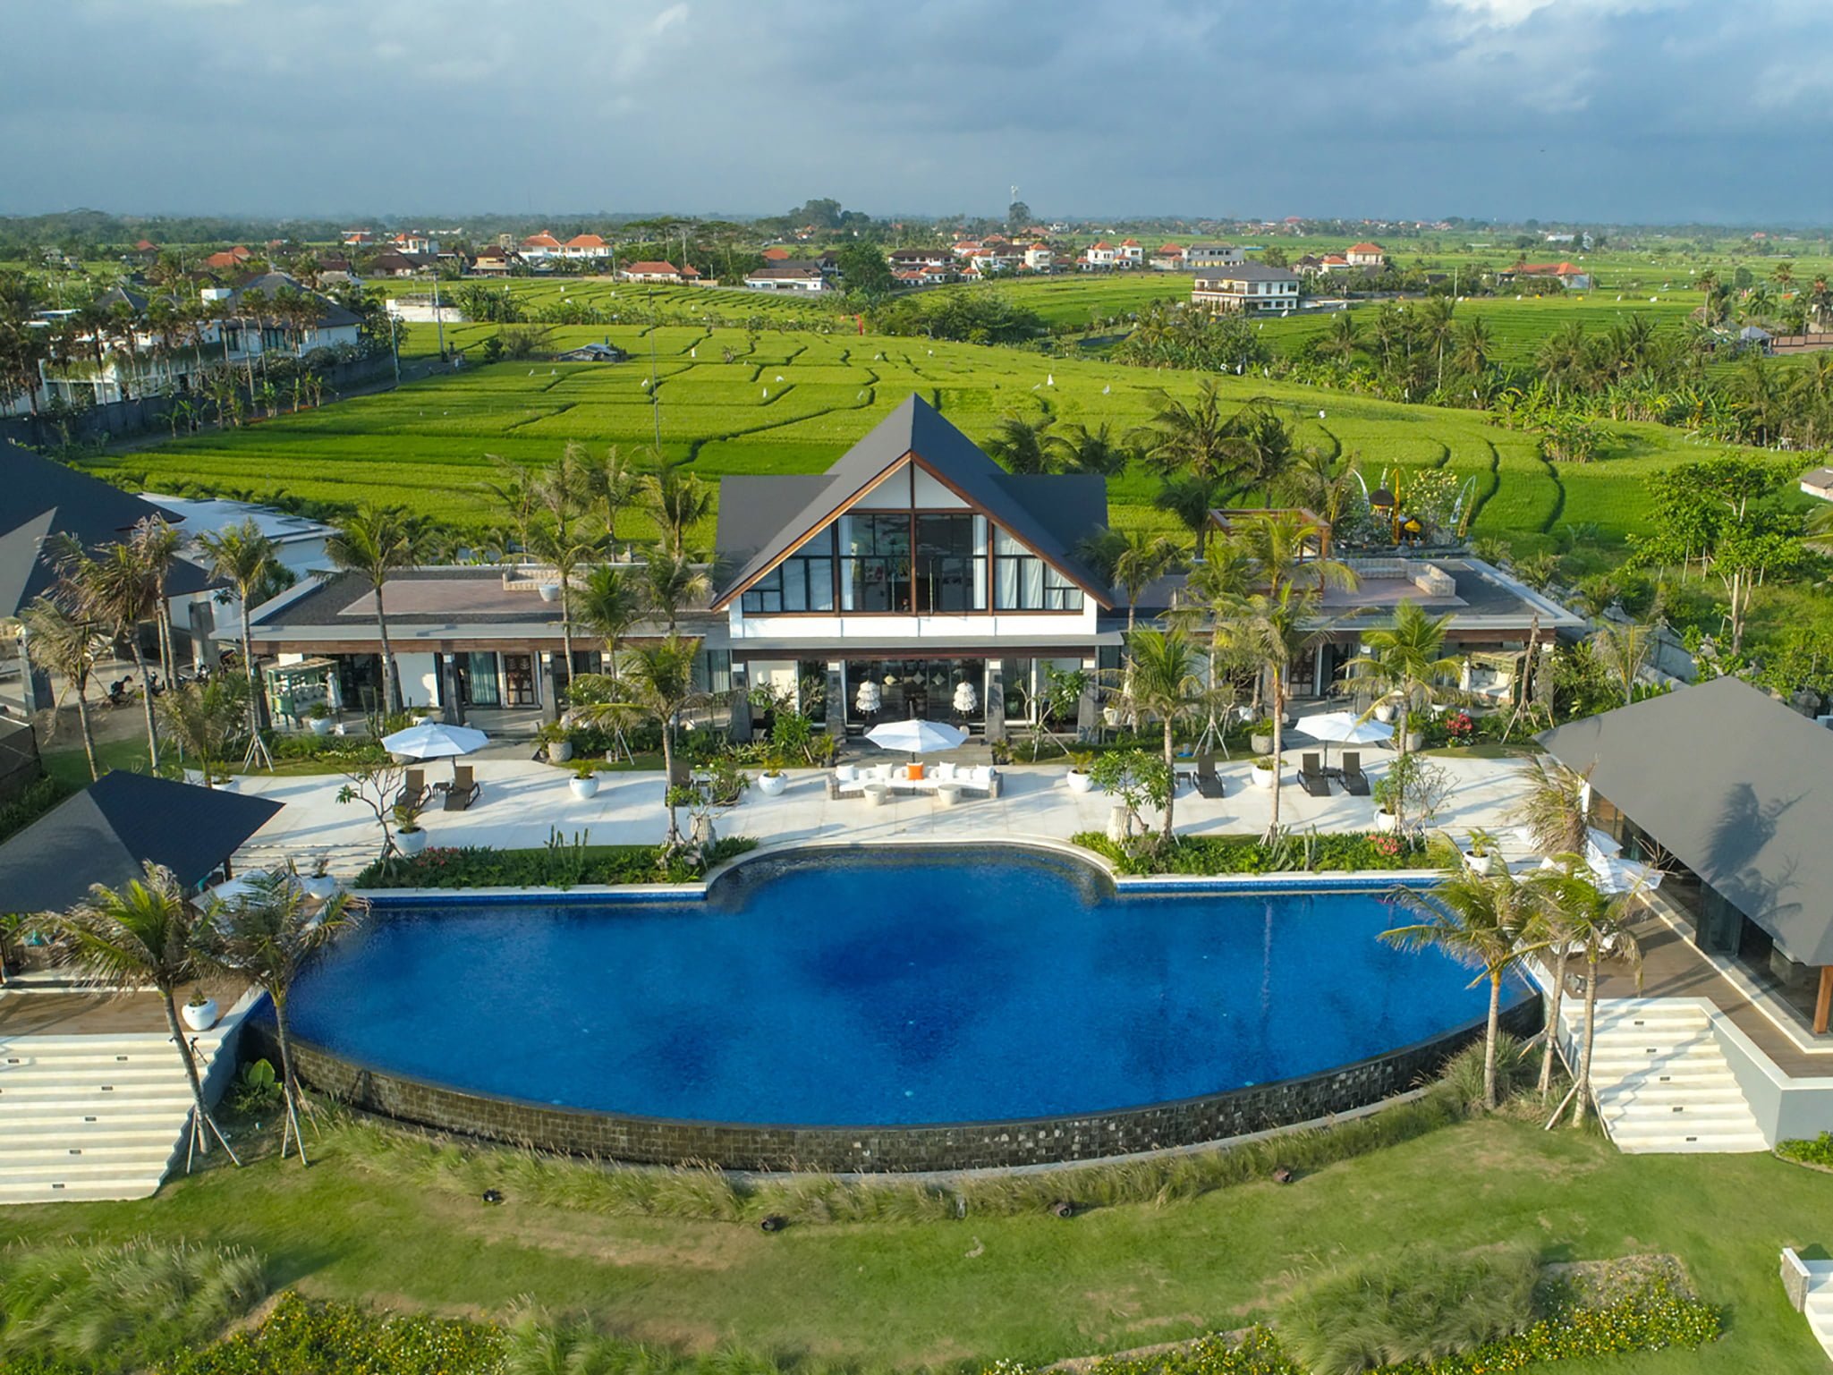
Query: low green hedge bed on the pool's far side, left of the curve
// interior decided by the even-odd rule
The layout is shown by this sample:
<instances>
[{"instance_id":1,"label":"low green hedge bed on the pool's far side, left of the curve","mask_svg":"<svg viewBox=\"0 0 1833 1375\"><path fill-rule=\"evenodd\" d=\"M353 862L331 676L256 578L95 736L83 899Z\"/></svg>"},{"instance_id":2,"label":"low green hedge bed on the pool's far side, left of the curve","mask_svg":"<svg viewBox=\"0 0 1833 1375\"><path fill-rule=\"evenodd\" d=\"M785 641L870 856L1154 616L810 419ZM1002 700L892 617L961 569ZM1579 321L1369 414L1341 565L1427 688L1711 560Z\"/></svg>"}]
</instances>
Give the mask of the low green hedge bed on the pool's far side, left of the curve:
<instances>
[{"instance_id":1,"label":"low green hedge bed on the pool's far side, left of the curve","mask_svg":"<svg viewBox=\"0 0 1833 1375\"><path fill-rule=\"evenodd\" d=\"M357 887L574 887L576 884L686 884L717 864L755 849L748 836L715 840L702 864L687 852L664 860L656 845L546 845L499 851L488 845L425 849L376 862Z\"/></svg>"}]
</instances>

